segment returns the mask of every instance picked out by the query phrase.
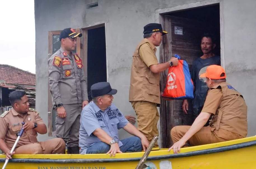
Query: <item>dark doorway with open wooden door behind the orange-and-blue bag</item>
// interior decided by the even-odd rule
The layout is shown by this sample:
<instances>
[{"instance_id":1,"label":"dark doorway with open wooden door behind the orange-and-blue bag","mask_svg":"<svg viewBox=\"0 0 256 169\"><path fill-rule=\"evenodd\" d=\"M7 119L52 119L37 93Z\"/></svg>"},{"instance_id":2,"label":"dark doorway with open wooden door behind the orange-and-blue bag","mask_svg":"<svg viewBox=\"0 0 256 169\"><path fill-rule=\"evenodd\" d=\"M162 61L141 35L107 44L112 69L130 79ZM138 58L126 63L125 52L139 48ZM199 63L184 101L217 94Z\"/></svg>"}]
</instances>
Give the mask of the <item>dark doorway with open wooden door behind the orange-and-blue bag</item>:
<instances>
[{"instance_id":1,"label":"dark doorway with open wooden door behind the orange-and-blue bag","mask_svg":"<svg viewBox=\"0 0 256 169\"><path fill-rule=\"evenodd\" d=\"M175 54L186 60L190 71L192 62L203 55L201 36L208 32L215 35L216 48L213 51L220 55L220 8L219 4L186 9L168 13L163 16L164 29L168 34L163 39L163 53L160 61L166 62ZM161 75L161 90L165 87L168 71ZM191 125L193 122L192 102L189 111L182 111L182 100L165 101L161 99L160 126L162 147L172 145L170 130L177 125Z\"/></svg>"}]
</instances>

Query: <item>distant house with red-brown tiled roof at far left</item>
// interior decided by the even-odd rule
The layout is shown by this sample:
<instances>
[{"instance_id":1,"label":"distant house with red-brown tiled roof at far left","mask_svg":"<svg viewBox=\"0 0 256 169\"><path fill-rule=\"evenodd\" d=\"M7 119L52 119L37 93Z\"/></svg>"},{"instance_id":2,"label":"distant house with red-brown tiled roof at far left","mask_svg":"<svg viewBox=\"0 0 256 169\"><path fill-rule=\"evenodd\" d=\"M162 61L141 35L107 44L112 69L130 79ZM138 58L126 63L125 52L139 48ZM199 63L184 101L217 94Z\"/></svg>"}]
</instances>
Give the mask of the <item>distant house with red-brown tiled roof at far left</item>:
<instances>
[{"instance_id":1,"label":"distant house with red-brown tiled roof at far left","mask_svg":"<svg viewBox=\"0 0 256 169\"><path fill-rule=\"evenodd\" d=\"M36 75L25 70L0 64L0 114L11 108L9 93L15 90L25 91L30 107L36 103Z\"/></svg>"}]
</instances>

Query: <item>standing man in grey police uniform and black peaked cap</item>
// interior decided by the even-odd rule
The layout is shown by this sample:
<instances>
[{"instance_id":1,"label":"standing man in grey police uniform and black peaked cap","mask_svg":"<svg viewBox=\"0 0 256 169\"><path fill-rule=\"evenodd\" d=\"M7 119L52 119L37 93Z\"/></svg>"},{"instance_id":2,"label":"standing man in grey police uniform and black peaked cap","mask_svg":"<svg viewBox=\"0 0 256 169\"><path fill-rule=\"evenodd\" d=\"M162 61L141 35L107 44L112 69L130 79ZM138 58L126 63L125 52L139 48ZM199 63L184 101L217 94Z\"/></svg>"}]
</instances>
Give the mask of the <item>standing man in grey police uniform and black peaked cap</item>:
<instances>
[{"instance_id":1,"label":"standing man in grey police uniform and black peaked cap","mask_svg":"<svg viewBox=\"0 0 256 169\"><path fill-rule=\"evenodd\" d=\"M81 36L71 28L62 30L61 47L48 59L52 102L57 107L56 136L64 139L70 154L79 154L80 114L88 104L83 62L72 52L76 38Z\"/></svg>"}]
</instances>

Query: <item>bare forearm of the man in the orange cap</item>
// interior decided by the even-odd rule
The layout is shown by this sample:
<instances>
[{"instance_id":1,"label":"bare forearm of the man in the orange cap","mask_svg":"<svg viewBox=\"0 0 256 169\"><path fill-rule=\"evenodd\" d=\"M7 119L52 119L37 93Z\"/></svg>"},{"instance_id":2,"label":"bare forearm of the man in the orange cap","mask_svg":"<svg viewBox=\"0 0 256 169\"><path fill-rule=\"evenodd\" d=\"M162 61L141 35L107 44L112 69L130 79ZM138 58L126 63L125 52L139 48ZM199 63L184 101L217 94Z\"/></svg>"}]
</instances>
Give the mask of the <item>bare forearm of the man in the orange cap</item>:
<instances>
[{"instance_id":1,"label":"bare forearm of the man in the orange cap","mask_svg":"<svg viewBox=\"0 0 256 169\"><path fill-rule=\"evenodd\" d=\"M196 134L210 118L211 113L201 112L194 123L191 125L186 134L181 138L184 142L188 141L194 134Z\"/></svg>"}]
</instances>

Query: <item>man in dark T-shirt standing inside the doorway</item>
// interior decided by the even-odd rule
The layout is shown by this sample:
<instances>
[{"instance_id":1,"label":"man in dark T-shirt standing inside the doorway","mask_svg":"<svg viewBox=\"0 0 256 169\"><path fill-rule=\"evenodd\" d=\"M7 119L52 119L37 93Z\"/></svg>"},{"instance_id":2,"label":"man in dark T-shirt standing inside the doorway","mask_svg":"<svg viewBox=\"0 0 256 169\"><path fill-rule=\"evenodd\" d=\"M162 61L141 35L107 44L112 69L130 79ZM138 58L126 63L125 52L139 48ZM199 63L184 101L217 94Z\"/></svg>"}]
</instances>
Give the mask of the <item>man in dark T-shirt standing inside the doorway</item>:
<instances>
[{"instance_id":1,"label":"man in dark T-shirt standing inside the doorway","mask_svg":"<svg viewBox=\"0 0 256 169\"><path fill-rule=\"evenodd\" d=\"M203 56L194 60L192 64L191 78L194 83L193 121L203 108L208 90L206 83L199 76L205 72L206 68L210 65L220 66L220 56L213 53L213 49L215 47L216 42L214 36L209 33L205 33L201 38L201 50L203 52ZM187 100L184 100L182 109L186 114L188 108L189 103Z\"/></svg>"}]
</instances>

